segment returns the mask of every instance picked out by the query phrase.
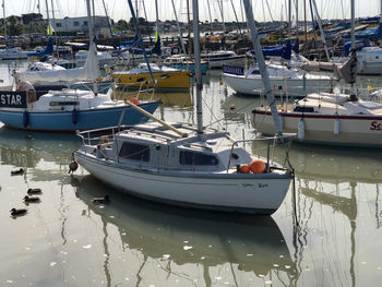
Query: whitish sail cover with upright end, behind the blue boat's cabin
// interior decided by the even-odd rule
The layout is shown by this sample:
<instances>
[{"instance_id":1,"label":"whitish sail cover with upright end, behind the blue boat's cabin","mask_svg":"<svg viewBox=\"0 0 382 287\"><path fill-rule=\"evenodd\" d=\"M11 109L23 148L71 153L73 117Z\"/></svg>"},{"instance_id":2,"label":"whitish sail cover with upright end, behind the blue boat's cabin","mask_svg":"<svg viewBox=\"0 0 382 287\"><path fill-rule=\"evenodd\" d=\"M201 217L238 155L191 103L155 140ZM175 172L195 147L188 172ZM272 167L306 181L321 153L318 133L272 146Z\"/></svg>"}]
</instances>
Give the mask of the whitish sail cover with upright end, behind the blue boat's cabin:
<instances>
[{"instance_id":1,"label":"whitish sail cover with upright end, behind the blue boat's cabin","mask_svg":"<svg viewBox=\"0 0 382 287\"><path fill-rule=\"evenodd\" d=\"M36 82L75 82L95 81L99 77L98 57L94 43L92 43L84 67L68 70L47 71L24 71L15 73L15 77L21 81Z\"/></svg>"}]
</instances>

